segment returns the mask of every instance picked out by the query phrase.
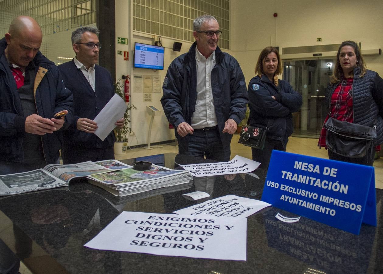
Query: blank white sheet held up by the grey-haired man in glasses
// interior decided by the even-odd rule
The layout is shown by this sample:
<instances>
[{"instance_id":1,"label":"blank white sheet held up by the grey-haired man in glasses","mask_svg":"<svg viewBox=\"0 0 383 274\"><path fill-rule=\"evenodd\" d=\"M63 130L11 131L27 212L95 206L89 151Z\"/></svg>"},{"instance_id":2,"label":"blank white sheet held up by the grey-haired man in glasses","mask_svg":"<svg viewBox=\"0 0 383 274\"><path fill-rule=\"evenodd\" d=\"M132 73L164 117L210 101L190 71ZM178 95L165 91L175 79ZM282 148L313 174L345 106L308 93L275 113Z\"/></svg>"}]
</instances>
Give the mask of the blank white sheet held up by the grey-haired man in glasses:
<instances>
[{"instance_id":1,"label":"blank white sheet held up by the grey-haired man in glasses","mask_svg":"<svg viewBox=\"0 0 383 274\"><path fill-rule=\"evenodd\" d=\"M124 100L117 94L113 95L113 97L93 120L98 125L98 128L95 130L94 134L104 141L106 136L108 136L108 134L111 133L111 131L116 127L116 121L124 117L125 110L126 103Z\"/></svg>"}]
</instances>

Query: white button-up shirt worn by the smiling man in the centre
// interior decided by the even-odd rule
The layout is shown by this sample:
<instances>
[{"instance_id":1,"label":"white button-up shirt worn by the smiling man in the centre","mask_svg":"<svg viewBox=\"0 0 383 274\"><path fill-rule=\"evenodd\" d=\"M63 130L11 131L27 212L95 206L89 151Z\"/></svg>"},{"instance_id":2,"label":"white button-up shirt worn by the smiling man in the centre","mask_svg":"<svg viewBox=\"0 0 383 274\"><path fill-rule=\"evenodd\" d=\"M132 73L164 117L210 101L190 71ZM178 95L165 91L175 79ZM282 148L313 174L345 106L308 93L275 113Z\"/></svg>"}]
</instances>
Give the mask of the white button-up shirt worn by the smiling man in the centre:
<instances>
[{"instance_id":1,"label":"white button-up shirt worn by the smiling man in the centre","mask_svg":"<svg viewBox=\"0 0 383 274\"><path fill-rule=\"evenodd\" d=\"M213 91L211 90L211 71L216 64L215 52L208 57L203 56L195 48L197 64L197 101L191 116L193 128L205 128L218 125L214 109Z\"/></svg>"}]
</instances>

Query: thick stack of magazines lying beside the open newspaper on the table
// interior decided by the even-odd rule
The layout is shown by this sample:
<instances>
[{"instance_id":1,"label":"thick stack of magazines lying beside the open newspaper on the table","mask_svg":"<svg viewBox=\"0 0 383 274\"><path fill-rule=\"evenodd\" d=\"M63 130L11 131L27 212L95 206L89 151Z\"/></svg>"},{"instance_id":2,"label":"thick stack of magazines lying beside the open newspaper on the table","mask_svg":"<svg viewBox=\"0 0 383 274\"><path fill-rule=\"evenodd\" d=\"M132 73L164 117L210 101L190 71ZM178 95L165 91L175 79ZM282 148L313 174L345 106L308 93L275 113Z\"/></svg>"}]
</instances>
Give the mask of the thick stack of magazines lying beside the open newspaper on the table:
<instances>
[{"instance_id":1,"label":"thick stack of magazines lying beside the open newspaper on the table","mask_svg":"<svg viewBox=\"0 0 383 274\"><path fill-rule=\"evenodd\" d=\"M89 176L88 182L109 191L116 196L139 194L149 190L166 187L166 192L188 189L193 184L193 176L185 170L168 169L152 165L146 171L133 168L120 169L112 172Z\"/></svg>"}]
</instances>

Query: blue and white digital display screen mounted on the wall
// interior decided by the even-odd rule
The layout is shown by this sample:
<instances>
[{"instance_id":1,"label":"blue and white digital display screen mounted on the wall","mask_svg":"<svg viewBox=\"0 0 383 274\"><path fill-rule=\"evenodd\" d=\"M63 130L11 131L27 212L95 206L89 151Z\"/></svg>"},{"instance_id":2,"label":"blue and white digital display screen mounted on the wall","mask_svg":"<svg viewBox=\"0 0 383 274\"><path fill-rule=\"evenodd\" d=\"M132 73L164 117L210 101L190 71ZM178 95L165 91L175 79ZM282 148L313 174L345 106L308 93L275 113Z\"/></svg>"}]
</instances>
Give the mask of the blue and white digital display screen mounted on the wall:
<instances>
[{"instance_id":1,"label":"blue and white digital display screen mounted on the wall","mask_svg":"<svg viewBox=\"0 0 383 274\"><path fill-rule=\"evenodd\" d=\"M134 67L164 69L164 53L164 47L134 43Z\"/></svg>"}]
</instances>

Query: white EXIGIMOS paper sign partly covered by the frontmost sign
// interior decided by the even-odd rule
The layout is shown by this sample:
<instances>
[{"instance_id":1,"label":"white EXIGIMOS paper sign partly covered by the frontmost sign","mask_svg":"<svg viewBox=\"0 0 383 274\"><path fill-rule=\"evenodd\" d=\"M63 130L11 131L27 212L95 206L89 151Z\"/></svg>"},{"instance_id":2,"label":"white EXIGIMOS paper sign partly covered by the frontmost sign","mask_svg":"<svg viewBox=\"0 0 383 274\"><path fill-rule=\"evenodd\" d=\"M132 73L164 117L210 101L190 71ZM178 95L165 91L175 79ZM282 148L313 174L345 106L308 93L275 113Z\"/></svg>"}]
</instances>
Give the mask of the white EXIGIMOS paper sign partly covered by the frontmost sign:
<instances>
[{"instance_id":1,"label":"white EXIGIMOS paper sign partly covered by the frontmost sign","mask_svg":"<svg viewBox=\"0 0 383 274\"><path fill-rule=\"evenodd\" d=\"M270 205L270 203L259 200L239 197L236 195L226 195L199 203L198 205L192 205L191 207L173 211L173 213L188 214L200 218L231 217L232 219L238 220L246 218Z\"/></svg>"}]
</instances>

